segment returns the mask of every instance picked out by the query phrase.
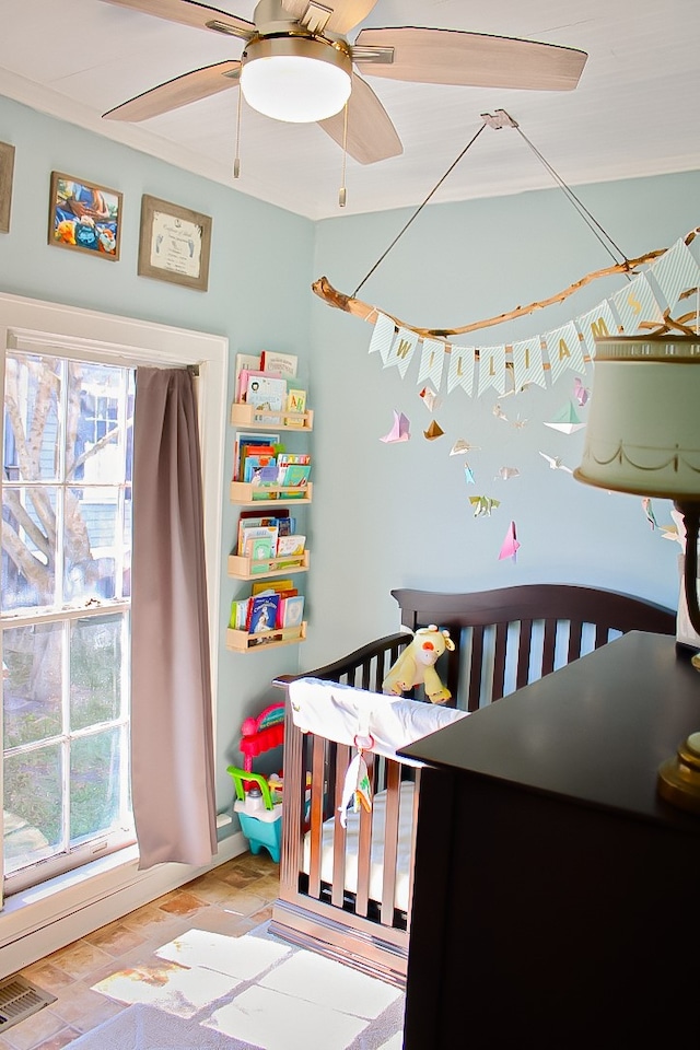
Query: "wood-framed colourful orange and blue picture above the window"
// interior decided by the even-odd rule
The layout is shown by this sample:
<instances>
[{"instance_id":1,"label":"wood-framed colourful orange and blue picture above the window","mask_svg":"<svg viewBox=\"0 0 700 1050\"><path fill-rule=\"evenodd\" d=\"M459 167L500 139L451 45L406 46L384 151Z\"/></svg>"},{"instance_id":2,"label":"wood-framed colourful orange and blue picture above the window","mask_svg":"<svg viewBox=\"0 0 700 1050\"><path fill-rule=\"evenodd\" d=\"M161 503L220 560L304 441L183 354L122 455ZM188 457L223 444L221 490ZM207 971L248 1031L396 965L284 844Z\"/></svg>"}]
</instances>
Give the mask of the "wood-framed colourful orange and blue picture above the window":
<instances>
[{"instance_id":1,"label":"wood-framed colourful orange and blue picture above the window","mask_svg":"<svg viewBox=\"0 0 700 1050\"><path fill-rule=\"evenodd\" d=\"M48 243L102 259L119 258L121 194L51 172Z\"/></svg>"}]
</instances>

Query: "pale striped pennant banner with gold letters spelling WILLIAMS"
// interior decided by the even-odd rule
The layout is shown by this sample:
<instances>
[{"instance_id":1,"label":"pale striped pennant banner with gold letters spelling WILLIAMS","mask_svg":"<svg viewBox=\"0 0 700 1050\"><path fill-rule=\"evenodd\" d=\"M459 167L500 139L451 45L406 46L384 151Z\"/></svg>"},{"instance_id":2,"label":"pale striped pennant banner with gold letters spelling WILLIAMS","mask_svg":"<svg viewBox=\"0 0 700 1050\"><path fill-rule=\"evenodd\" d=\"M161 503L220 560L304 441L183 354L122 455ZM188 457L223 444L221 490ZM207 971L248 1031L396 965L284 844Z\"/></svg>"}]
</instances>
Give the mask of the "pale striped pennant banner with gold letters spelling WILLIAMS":
<instances>
[{"instance_id":1,"label":"pale striped pennant banner with gold letters spelling WILLIAMS","mask_svg":"<svg viewBox=\"0 0 700 1050\"><path fill-rule=\"evenodd\" d=\"M509 369L513 372L514 386L510 393L518 394L528 384L546 387L547 371L551 383L557 383L567 372L585 375L586 362L595 358L597 338L649 334L653 326L664 324L664 312L670 311L685 292L697 291L700 285L700 264L682 238L654 260L649 275L652 280L646 273L638 273L610 299L560 328L512 346L458 347L442 339L421 339L408 328L397 331L392 318L378 313L369 352L378 351L384 368L395 365L404 378L420 342L417 382L430 382L439 390L446 361L448 394L460 387L469 397L475 393L479 397L488 389L503 396L509 388ZM578 418L569 418L567 409L565 419L547 425L559 425L571 433L569 428L578 429L583 423Z\"/></svg>"}]
</instances>

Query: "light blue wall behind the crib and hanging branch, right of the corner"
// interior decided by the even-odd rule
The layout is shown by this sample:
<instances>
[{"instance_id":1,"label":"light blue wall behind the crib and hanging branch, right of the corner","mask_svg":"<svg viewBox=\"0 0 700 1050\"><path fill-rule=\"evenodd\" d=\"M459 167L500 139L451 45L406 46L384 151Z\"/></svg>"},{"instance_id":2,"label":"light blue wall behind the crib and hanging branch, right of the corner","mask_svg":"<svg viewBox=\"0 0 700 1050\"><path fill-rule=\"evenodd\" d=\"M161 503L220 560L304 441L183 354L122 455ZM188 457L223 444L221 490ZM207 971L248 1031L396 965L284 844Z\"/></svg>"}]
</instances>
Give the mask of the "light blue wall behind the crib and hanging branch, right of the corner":
<instances>
[{"instance_id":1,"label":"light blue wall behind the crib and hanging branch, right of the corner","mask_svg":"<svg viewBox=\"0 0 700 1050\"><path fill-rule=\"evenodd\" d=\"M667 247L692 230L699 194L699 172L576 190L628 258ZM410 214L318 223L314 278L324 275L352 293ZM693 252L697 258L696 245ZM418 215L358 298L416 326L452 328L547 299L610 264L557 189L435 203ZM494 346L528 338L584 314L625 284L620 275L595 281L562 304L456 341ZM460 389L446 394L443 381L434 418L445 434L428 441L422 432L431 415L418 396L418 357L402 380L396 369L383 370L378 354L368 353L372 326L319 299L312 330L318 499L307 667L397 629L393 587L591 583L675 607L679 547L651 530L641 500L591 489L550 469L539 455L579 464L583 431L569 436L544 425L571 398L576 373L503 399L494 390L480 398ZM586 385L592 377L590 366ZM497 402L508 422L493 415ZM384 444L380 438L394 409L409 417L412 436ZM518 417L527 420L522 429L512 424ZM474 486L465 481L464 457L450 456L458 438L480 446L467 456ZM501 480L503 466L517 467L520 477ZM475 518L475 494L501 504L492 516ZM653 508L660 524L670 523L667 501ZM515 563L499 560L511 521L522 544Z\"/></svg>"}]
</instances>

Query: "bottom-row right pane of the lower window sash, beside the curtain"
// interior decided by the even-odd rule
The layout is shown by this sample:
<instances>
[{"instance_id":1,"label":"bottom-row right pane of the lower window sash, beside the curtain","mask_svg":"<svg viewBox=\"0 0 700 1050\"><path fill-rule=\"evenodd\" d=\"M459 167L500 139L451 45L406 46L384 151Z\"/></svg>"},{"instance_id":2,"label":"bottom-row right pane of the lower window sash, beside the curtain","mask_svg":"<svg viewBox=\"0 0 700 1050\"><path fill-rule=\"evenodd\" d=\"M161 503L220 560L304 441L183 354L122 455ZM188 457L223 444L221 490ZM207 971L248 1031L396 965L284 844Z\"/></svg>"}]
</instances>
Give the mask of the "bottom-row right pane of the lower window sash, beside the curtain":
<instances>
[{"instance_id":1,"label":"bottom-row right pane of the lower window sash, beside the curtain","mask_svg":"<svg viewBox=\"0 0 700 1050\"><path fill-rule=\"evenodd\" d=\"M121 767L127 751L121 731L106 730L73 740L70 752L70 839L94 838L120 827Z\"/></svg>"}]
</instances>

